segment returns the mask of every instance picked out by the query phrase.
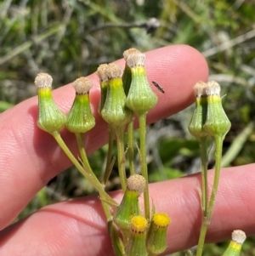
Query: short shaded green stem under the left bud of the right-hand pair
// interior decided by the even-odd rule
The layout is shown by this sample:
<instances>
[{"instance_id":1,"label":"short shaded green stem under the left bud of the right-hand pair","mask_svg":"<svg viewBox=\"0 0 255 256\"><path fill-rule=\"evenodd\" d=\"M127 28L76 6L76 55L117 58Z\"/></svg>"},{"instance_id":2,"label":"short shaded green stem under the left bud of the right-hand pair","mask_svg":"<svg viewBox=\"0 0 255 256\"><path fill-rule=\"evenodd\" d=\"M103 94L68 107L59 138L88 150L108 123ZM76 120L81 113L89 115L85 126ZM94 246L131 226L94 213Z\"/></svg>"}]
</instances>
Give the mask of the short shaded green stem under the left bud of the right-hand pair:
<instances>
[{"instance_id":1,"label":"short shaded green stem under the left bud of the right-hand pair","mask_svg":"<svg viewBox=\"0 0 255 256\"><path fill-rule=\"evenodd\" d=\"M207 217L207 137L200 139L200 153L201 153L201 177L202 177L202 194L201 207L203 217Z\"/></svg>"}]
</instances>

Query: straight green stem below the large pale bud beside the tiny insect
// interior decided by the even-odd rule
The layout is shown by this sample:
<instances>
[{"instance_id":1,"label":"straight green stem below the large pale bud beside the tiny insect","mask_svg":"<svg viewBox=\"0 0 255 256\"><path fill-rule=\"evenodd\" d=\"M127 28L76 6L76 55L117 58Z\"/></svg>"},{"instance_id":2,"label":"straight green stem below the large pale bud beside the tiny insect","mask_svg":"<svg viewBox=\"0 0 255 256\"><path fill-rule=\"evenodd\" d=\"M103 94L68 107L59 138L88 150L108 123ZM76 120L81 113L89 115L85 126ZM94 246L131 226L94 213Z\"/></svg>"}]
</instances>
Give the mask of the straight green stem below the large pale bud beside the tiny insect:
<instances>
[{"instance_id":1,"label":"straight green stem below the large pale bud beside the tiny insect","mask_svg":"<svg viewBox=\"0 0 255 256\"><path fill-rule=\"evenodd\" d=\"M141 158L141 170L144 179L146 179L146 186L144 189L144 213L145 218L150 219L150 200L149 200L149 179L146 162L146 113L139 115L139 137L140 137L140 158Z\"/></svg>"}]
</instances>

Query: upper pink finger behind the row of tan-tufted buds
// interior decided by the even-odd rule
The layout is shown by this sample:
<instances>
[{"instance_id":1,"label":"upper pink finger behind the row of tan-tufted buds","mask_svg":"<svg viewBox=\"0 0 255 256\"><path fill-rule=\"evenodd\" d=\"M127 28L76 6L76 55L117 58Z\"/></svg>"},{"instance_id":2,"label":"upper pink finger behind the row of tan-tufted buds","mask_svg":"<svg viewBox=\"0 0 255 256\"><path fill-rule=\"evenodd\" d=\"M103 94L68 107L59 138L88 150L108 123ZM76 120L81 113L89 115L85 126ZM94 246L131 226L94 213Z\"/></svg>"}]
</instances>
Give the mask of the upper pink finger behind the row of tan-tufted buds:
<instances>
[{"instance_id":1,"label":"upper pink finger behind the row of tan-tufted buds","mask_svg":"<svg viewBox=\"0 0 255 256\"><path fill-rule=\"evenodd\" d=\"M123 61L119 61L123 65ZM156 80L166 90L159 94L156 108L150 111L149 122L155 122L190 105L194 100L192 86L198 80L207 79L207 64L201 54L188 46L170 46L146 54L149 81ZM86 146L92 152L107 139L105 122L97 114L99 79L95 74L91 102L96 117L96 127L88 133ZM71 107L75 92L71 85L54 91L54 99L66 112ZM37 128L37 97L26 100L0 116L0 230L12 221L48 180L71 166L71 162L59 149L54 139ZM72 134L63 131L66 144L75 151ZM76 153L75 153L76 155ZM12 203L9 203L12 202Z\"/></svg>"}]
</instances>

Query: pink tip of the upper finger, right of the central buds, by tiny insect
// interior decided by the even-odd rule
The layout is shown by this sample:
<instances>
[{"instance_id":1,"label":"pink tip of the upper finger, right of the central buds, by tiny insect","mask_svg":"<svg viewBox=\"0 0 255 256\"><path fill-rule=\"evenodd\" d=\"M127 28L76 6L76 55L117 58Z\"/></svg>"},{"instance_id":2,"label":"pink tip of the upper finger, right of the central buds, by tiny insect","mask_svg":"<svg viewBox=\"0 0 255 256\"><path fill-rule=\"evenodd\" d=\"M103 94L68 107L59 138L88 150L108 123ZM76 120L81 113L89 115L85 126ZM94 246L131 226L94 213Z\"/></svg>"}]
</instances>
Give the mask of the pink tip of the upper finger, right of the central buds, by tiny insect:
<instances>
[{"instance_id":1,"label":"pink tip of the upper finger, right of the central buds, by tiny insect","mask_svg":"<svg viewBox=\"0 0 255 256\"><path fill-rule=\"evenodd\" d=\"M169 117L194 102L195 82L207 81L208 77L207 61L199 51L188 45L173 45L151 51L146 57L149 82L158 82L165 91L162 94L153 88L159 100L150 111L150 122Z\"/></svg>"}]
</instances>

